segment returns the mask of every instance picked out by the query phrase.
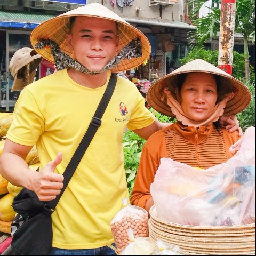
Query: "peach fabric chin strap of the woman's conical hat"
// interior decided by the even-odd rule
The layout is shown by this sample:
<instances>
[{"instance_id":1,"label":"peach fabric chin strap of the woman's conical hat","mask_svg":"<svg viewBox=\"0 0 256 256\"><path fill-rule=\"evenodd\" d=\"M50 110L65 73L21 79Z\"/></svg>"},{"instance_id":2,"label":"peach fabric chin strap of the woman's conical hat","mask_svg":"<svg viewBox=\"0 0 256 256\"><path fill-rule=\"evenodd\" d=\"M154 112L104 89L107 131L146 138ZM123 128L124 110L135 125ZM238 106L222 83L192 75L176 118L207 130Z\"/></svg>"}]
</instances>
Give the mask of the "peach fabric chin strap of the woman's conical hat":
<instances>
[{"instance_id":1,"label":"peach fabric chin strap of the woman's conical hat","mask_svg":"<svg viewBox=\"0 0 256 256\"><path fill-rule=\"evenodd\" d=\"M172 96L172 94L167 94L167 104L171 107L172 113L176 116L178 121L183 125L195 126L197 128L201 125L209 125L211 122L217 121L219 117L223 115L227 102L232 99L234 95L233 92L227 94L224 99L215 105L213 114L204 121L195 121L187 117L183 112L180 103Z\"/></svg>"}]
</instances>

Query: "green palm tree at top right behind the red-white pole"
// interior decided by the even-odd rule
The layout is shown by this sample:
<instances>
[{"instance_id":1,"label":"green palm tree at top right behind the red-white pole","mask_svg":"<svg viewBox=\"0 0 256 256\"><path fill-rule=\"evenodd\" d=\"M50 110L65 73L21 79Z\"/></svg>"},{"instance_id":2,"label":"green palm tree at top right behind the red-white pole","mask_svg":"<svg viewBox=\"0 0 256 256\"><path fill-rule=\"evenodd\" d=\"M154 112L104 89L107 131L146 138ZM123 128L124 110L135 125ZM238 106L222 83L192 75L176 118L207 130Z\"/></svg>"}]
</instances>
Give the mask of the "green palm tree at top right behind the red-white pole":
<instances>
[{"instance_id":1,"label":"green palm tree at top right behind the red-white pole","mask_svg":"<svg viewBox=\"0 0 256 256\"><path fill-rule=\"evenodd\" d=\"M214 1L214 0L213 0ZM191 39L192 49L200 49L207 39L215 38L217 32L220 31L220 16L221 11L216 7L210 8L207 16L197 18L199 9L203 6L206 0L191 0L188 5L194 7L189 13L190 20L197 27L191 31L189 39ZM221 0L215 0L215 3L221 3ZM244 41L244 60L245 60L245 78L250 79L249 68L249 49L248 41L255 41L255 0L236 0L236 17L235 17L235 33L243 35Z\"/></svg>"}]
</instances>

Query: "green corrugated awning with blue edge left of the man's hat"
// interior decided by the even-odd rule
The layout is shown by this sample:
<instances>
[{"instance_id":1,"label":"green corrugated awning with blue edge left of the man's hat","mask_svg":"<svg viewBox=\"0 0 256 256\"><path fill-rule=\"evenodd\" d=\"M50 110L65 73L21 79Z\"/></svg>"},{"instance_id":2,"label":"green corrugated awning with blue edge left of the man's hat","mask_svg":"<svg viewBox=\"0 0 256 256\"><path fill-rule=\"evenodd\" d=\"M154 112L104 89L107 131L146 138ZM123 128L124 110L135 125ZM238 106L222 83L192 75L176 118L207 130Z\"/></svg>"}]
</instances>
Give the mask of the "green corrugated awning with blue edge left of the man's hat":
<instances>
[{"instance_id":1,"label":"green corrugated awning with blue edge left of the man's hat","mask_svg":"<svg viewBox=\"0 0 256 256\"><path fill-rule=\"evenodd\" d=\"M40 23L55 16L40 12L0 10L0 28L34 29Z\"/></svg>"}]
</instances>

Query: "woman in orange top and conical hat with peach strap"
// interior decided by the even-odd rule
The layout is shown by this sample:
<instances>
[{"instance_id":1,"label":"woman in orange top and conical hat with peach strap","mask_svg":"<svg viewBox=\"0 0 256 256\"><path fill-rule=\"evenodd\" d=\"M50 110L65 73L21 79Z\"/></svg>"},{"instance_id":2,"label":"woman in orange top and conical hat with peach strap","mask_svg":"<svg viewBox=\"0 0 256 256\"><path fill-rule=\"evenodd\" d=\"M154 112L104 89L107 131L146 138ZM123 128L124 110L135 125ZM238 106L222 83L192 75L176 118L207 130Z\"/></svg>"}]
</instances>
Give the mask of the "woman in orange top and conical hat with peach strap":
<instances>
[{"instance_id":1,"label":"woman in orange top and conical hat with peach strap","mask_svg":"<svg viewBox=\"0 0 256 256\"><path fill-rule=\"evenodd\" d=\"M215 123L224 113L235 115L251 101L247 87L204 60L193 60L156 81L147 93L155 110L177 118L147 140L131 196L131 203L149 212L154 204L150 185L162 157L207 169L225 163L238 133Z\"/></svg>"}]
</instances>

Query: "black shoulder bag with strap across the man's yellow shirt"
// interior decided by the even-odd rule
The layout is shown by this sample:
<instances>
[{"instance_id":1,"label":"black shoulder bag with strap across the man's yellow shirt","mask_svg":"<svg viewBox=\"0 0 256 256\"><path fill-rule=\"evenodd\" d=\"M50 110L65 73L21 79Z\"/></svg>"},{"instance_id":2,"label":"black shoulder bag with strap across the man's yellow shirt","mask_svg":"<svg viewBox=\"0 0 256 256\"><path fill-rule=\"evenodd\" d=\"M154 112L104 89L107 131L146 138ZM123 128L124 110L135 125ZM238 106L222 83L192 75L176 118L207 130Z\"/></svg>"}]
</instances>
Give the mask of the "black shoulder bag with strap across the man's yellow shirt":
<instances>
[{"instance_id":1,"label":"black shoulder bag with strap across the man's yellow shirt","mask_svg":"<svg viewBox=\"0 0 256 256\"><path fill-rule=\"evenodd\" d=\"M101 117L115 89L117 76L111 74L107 89L99 103L92 121L71 158L64 176L61 193L52 201L39 201L34 191L22 188L14 197L12 207L18 214L11 224L13 255L49 255L52 250L52 219L51 214L66 189L95 132L101 125Z\"/></svg>"}]
</instances>

